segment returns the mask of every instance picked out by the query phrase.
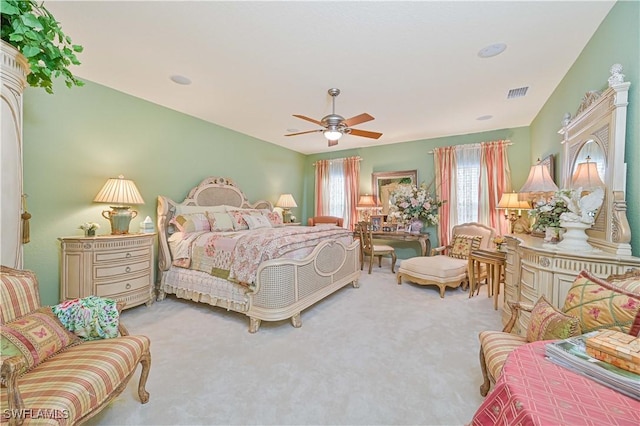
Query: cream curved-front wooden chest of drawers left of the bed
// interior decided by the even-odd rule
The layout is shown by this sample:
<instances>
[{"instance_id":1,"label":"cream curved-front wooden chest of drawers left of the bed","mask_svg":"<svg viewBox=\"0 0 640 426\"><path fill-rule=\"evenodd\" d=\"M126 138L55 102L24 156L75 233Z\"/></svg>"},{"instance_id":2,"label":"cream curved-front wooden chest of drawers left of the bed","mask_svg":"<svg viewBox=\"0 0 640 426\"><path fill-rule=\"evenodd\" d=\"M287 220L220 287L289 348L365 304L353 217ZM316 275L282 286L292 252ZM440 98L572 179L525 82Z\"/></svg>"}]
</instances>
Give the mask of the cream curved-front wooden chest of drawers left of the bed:
<instances>
[{"instance_id":1,"label":"cream curved-front wooden chest of drawers left of the bed","mask_svg":"<svg viewBox=\"0 0 640 426\"><path fill-rule=\"evenodd\" d=\"M60 300L91 295L125 303L153 303L156 234L62 237Z\"/></svg>"}]
</instances>

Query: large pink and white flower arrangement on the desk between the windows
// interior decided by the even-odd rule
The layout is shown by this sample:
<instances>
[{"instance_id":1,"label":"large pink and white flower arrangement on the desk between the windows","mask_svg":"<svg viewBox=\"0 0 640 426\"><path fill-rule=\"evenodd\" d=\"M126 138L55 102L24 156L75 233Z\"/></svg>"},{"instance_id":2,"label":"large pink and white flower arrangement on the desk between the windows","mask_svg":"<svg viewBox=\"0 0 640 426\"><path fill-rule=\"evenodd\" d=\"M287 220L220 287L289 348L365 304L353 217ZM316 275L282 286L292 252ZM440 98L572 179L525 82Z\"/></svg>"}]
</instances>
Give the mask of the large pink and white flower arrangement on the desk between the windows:
<instances>
[{"instance_id":1,"label":"large pink and white flower arrangement on the desk between the windows","mask_svg":"<svg viewBox=\"0 0 640 426\"><path fill-rule=\"evenodd\" d=\"M437 225L438 209L444 201L438 201L429 194L424 183L416 185L399 185L389 196L391 207L389 216L403 221L419 219L425 225Z\"/></svg>"}]
</instances>

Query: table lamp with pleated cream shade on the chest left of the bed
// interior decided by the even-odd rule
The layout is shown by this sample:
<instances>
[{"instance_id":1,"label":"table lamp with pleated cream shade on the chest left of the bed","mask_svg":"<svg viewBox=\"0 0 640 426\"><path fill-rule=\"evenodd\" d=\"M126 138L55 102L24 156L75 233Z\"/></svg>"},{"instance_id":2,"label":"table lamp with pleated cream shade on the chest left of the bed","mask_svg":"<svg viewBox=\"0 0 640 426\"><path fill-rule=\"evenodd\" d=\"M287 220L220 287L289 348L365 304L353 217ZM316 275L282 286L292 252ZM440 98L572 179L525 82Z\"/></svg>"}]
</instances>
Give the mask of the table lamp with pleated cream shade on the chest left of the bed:
<instances>
[{"instance_id":1,"label":"table lamp with pleated cream shade on the chest left of the bed","mask_svg":"<svg viewBox=\"0 0 640 426\"><path fill-rule=\"evenodd\" d=\"M104 210L102 216L111 222L111 234L128 234L131 219L138 215L138 212L131 210L132 204L144 204L140 191L132 180L125 179L123 175L117 178L109 178L104 184L94 203L118 204L111 206L111 210Z\"/></svg>"}]
</instances>

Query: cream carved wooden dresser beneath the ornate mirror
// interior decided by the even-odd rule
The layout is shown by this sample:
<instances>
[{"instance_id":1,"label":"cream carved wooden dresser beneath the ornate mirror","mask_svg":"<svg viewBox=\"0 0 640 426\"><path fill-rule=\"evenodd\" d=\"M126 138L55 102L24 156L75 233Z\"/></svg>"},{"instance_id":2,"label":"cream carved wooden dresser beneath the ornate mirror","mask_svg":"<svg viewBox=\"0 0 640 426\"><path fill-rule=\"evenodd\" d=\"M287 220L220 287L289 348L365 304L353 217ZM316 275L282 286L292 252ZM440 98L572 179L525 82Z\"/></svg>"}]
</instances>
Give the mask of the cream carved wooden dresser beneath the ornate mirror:
<instances>
[{"instance_id":1,"label":"cream carved wooden dresser beneath the ornate mirror","mask_svg":"<svg viewBox=\"0 0 640 426\"><path fill-rule=\"evenodd\" d=\"M544 295L551 304L562 308L576 275L583 269L600 278L640 268L640 258L606 252L571 253L554 250L542 238L526 234L506 236L505 298L535 304ZM511 318L505 303L502 322ZM521 312L514 331L526 333L529 314Z\"/></svg>"}]
</instances>

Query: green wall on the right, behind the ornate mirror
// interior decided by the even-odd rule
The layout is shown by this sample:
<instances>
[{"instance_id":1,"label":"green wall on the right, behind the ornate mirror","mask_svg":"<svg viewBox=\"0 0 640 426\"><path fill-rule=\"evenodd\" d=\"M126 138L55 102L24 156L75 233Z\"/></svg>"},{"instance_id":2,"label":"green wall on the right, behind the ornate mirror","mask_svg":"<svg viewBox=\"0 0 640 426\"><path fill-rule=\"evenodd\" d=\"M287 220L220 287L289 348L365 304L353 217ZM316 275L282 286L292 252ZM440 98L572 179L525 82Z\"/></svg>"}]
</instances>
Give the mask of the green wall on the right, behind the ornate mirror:
<instances>
[{"instance_id":1,"label":"green wall on the right, behind the ornate mirror","mask_svg":"<svg viewBox=\"0 0 640 426\"><path fill-rule=\"evenodd\" d=\"M587 91L607 88L609 68L615 63L622 64L625 81L631 82L625 148L626 201L633 255L640 256L640 2L616 3L549 97L531 124L531 158L557 155L556 177L562 176L562 136L557 133L562 117L565 112L575 115Z\"/></svg>"}]
</instances>

